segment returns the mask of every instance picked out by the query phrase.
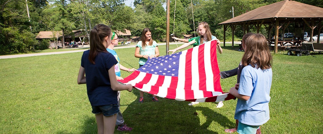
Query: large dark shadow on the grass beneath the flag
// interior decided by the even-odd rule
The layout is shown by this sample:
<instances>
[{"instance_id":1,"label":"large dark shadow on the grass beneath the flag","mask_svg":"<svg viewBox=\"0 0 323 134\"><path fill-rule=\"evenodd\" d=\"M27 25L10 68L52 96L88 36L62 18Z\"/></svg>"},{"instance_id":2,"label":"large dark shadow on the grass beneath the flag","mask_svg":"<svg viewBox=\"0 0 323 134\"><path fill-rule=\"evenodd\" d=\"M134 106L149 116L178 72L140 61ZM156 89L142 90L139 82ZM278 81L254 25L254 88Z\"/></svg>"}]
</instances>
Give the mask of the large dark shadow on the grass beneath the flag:
<instances>
[{"instance_id":1,"label":"large dark shadow on the grass beneath the flag","mask_svg":"<svg viewBox=\"0 0 323 134\"><path fill-rule=\"evenodd\" d=\"M159 98L160 102L153 102L151 95L147 93L144 93L144 102L139 103L139 90L134 89L132 92L137 99L122 112L125 123L133 128L131 133L216 134L215 127L217 129L234 127L234 123L227 117L210 108L192 107L187 105L189 103L187 101L166 98ZM199 115L194 114L195 112ZM212 122L217 122L221 126L210 126ZM123 132L115 130L115 133Z\"/></svg>"}]
</instances>

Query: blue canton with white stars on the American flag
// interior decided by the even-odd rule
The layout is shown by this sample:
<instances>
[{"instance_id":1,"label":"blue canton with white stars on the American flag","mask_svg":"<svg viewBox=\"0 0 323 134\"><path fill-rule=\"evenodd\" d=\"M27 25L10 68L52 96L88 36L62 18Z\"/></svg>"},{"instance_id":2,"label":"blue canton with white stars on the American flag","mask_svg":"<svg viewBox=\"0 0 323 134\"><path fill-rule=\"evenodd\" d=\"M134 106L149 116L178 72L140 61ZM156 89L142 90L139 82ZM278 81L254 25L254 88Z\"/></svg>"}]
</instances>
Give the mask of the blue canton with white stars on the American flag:
<instances>
[{"instance_id":1,"label":"blue canton with white stars on the American flag","mask_svg":"<svg viewBox=\"0 0 323 134\"><path fill-rule=\"evenodd\" d=\"M145 73L178 76L179 59L182 52L161 57L149 58L138 70Z\"/></svg>"}]
</instances>

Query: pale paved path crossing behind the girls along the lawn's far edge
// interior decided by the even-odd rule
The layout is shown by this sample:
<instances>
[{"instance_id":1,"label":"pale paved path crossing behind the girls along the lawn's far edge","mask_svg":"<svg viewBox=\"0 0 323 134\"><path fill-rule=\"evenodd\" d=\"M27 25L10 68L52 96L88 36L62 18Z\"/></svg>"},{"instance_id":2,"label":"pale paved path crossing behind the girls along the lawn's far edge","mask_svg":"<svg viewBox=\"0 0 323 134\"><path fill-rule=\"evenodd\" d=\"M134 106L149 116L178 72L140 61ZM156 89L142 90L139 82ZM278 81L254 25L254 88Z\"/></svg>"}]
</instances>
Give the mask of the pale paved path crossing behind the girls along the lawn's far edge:
<instances>
[{"instance_id":1,"label":"pale paved path crossing behind the girls along the lawn's far edge","mask_svg":"<svg viewBox=\"0 0 323 134\"><path fill-rule=\"evenodd\" d=\"M223 43L223 42L221 42ZM241 42L234 42L235 44L239 44ZM172 44L178 44L178 46L182 45L183 42L170 42L170 45ZM228 44L228 46L231 45L231 42L225 42L225 44ZM163 43L157 43L157 45L166 45L165 42ZM120 49L120 48L134 48L136 45L129 45L129 46L115 46L114 49ZM84 45L81 48L90 48L89 45ZM41 55L55 55L55 54L65 54L65 53L75 53L75 52L83 52L88 49L81 49L78 50L79 48L71 48L71 49L76 49L76 50L70 50L70 51L61 51L61 52L48 52L48 53L33 53L33 54L21 54L21 55L5 55L5 56L0 56L0 59L6 59L6 58L17 58L17 57L30 57L30 56L41 56Z\"/></svg>"}]
</instances>

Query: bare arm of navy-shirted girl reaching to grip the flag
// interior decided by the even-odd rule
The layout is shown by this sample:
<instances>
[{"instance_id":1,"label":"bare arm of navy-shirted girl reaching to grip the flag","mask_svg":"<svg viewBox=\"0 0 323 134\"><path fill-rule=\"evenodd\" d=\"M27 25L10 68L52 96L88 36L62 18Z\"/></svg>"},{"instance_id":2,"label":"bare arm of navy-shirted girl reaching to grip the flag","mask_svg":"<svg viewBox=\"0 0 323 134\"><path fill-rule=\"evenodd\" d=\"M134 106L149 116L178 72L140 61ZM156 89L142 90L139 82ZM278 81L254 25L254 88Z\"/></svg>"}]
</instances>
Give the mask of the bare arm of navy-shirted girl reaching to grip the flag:
<instances>
[{"instance_id":1,"label":"bare arm of navy-shirted girl reaching to grip the flag","mask_svg":"<svg viewBox=\"0 0 323 134\"><path fill-rule=\"evenodd\" d=\"M128 90L129 92L132 90L132 86L130 84L121 85L118 83L116 79L116 75L114 72L114 66L112 66L109 70L109 78L111 83L111 88L113 91L121 91L121 90Z\"/></svg>"}]
</instances>

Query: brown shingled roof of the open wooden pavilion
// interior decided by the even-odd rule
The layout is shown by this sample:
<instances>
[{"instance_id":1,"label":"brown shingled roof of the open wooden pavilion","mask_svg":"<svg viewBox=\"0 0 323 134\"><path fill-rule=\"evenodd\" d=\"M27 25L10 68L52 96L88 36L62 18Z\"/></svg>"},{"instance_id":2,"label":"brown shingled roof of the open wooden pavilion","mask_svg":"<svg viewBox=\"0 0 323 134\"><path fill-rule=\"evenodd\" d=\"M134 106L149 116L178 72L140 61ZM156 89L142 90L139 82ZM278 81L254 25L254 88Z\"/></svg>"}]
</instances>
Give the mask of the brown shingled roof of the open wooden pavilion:
<instances>
[{"instance_id":1,"label":"brown shingled roof of the open wooden pavilion","mask_svg":"<svg viewBox=\"0 0 323 134\"><path fill-rule=\"evenodd\" d=\"M296 1L284 0L258 7L219 23L219 25L270 18L323 18L323 8Z\"/></svg>"}]
</instances>

